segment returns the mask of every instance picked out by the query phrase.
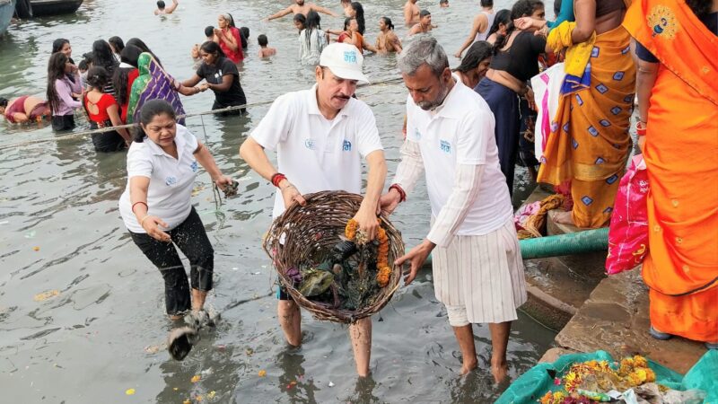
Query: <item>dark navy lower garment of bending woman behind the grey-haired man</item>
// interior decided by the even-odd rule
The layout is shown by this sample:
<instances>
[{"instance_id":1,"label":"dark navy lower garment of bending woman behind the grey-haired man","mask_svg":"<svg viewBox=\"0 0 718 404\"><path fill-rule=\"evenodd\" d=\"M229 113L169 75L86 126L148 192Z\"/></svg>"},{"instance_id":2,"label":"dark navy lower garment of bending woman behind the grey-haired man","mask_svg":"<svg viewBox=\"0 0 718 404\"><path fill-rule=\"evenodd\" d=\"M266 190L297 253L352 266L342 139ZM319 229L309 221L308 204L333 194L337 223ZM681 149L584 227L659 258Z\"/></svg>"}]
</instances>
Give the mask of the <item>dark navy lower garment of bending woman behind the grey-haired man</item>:
<instances>
[{"instance_id":1,"label":"dark navy lower garment of bending woman behind the grey-haired man","mask_svg":"<svg viewBox=\"0 0 718 404\"><path fill-rule=\"evenodd\" d=\"M475 92L481 94L494 112L496 120L495 139L499 151L499 162L509 193L513 194L513 173L519 154L520 110L519 95L503 84L484 77L478 82Z\"/></svg>"}]
</instances>

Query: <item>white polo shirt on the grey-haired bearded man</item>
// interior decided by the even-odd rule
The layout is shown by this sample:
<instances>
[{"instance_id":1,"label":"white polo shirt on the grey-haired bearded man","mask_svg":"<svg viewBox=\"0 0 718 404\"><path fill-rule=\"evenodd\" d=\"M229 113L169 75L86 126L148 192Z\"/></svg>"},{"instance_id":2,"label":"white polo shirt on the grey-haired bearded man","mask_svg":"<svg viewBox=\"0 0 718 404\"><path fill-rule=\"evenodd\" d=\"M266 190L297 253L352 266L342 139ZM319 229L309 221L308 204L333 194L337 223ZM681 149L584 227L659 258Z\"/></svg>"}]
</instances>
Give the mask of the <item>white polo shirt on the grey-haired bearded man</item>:
<instances>
[{"instance_id":1,"label":"white polo shirt on the grey-haired bearded man","mask_svg":"<svg viewBox=\"0 0 718 404\"><path fill-rule=\"evenodd\" d=\"M478 198L457 232L483 235L512 217L511 197L499 166L494 114L477 92L454 79L457 83L434 113L422 110L408 96L407 140L419 144L433 217L451 195L457 164L486 165Z\"/></svg>"}]
</instances>

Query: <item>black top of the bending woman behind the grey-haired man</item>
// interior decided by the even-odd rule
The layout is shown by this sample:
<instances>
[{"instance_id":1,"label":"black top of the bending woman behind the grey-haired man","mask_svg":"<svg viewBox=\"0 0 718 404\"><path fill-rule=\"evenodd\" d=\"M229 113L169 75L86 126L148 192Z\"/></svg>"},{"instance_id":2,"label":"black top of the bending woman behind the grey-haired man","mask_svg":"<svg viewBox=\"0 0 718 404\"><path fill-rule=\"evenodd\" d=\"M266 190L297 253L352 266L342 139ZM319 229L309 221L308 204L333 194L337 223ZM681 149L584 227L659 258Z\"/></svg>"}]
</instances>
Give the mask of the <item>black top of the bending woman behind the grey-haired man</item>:
<instances>
[{"instance_id":1,"label":"black top of the bending woman behind the grey-haired man","mask_svg":"<svg viewBox=\"0 0 718 404\"><path fill-rule=\"evenodd\" d=\"M538 55L546 51L546 38L533 32L521 31L513 39L511 48L499 50L490 67L502 70L525 82L538 75Z\"/></svg>"}]
</instances>

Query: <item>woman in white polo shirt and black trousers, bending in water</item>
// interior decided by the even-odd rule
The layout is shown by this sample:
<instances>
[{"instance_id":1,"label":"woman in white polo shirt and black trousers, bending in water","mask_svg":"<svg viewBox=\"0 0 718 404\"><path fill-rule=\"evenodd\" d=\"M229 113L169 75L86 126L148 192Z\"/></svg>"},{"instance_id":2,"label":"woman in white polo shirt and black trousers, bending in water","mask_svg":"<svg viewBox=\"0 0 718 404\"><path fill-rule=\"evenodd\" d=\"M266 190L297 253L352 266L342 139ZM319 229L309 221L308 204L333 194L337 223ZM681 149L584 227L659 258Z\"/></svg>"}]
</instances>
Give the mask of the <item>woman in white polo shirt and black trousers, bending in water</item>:
<instances>
[{"instance_id":1,"label":"woman in white polo shirt and black trousers, bending in water","mask_svg":"<svg viewBox=\"0 0 718 404\"><path fill-rule=\"evenodd\" d=\"M160 269L167 314L179 320L190 309L190 293L174 246L189 259L191 309L197 315L212 289L215 266L215 251L190 203L197 163L222 189L232 180L222 175L206 147L175 120L167 101L144 103L140 128L127 153L127 189L119 199L119 212L132 240Z\"/></svg>"}]
</instances>

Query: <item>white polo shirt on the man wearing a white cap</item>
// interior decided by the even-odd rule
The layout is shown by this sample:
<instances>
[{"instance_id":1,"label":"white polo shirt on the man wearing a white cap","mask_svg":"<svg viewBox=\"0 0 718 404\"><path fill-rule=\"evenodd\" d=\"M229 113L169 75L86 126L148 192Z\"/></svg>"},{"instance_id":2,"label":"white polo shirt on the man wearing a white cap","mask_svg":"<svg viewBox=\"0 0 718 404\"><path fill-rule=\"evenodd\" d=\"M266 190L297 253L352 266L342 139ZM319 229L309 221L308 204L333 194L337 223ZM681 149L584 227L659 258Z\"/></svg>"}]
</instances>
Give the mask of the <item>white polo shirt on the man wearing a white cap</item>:
<instances>
[{"instance_id":1,"label":"white polo shirt on the man wearing a white cap","mask_svg":"<svg viewBox=\"0 0 718 404\"><path fill-rule=\"evenodd\" d=\"M328 120L317 105L316 84L277 98L250 136L265 149L276 150L277 170L302 195L324 190L361 193L362 159L383 150L368 105L352 98ZM277 189L272 215L284 211Z\"/></svg>"}]
</instances>

